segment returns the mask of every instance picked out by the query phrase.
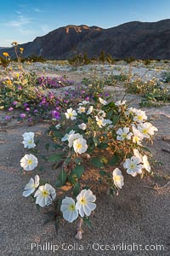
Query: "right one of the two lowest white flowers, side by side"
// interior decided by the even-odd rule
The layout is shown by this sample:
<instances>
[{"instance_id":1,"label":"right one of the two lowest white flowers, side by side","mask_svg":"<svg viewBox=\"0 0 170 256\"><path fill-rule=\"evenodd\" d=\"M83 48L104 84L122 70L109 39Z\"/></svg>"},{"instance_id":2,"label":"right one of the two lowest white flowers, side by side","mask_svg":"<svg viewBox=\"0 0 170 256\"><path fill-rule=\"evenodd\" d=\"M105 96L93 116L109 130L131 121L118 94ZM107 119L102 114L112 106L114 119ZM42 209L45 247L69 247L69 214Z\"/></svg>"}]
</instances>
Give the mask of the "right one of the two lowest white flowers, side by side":
<instances>
[{"instance_id":1,"label":"right one of the two lowest white flowers, side by side","mask_svg":"<svg viewBox=\"0 0 170 256\"><path fill-rule=\"evenodd\" d=\"M94 211L96 207L94 201L96 201L96 197L90 189L82 189L81 193L77 195L76 207L82 218L84 215L90 216L91 212Z\"/></svg>"}]
</instances>

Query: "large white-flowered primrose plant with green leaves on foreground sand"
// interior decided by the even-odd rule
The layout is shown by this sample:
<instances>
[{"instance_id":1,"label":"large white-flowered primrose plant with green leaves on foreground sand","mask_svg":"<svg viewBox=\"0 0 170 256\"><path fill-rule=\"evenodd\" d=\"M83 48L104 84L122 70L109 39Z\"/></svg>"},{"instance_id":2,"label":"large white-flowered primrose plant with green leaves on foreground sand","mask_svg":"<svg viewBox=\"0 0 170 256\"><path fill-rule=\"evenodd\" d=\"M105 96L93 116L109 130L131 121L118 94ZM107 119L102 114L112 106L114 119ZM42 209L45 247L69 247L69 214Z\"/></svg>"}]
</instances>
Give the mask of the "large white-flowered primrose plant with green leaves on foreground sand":
<instances>
[{"instance_id":1,"label":"large white-flowered primrose plant with green leaves on foreground sand","mask_svg":"<svg viewBox=\"0 0 170 256\"><path fill-rule=\"evenodd\" d=\"M90 215L96 208L90 186L103 185L110 195L117 195L124 185L125 172L132 177L150 174L150 154L143 142L152 142L155 131L157 128L144 111L127 108L126 101L107 102L95 97L90 102L79 102L77 108L61 113L59 124L49 131L56 152L48 156L48 162L59 168L55 189L48 183L40 186L36 176L26 185L23 195L35 193L33 197L40 207L52 205L66 221L77 220L76 237L81 239L82 224L90 224ZM35 148L32 132L23 134L23 139L25 148ZM20 160L20 166L28 172L37 164L33 154ZM92 173L98 184L90 180ZM69 187L66 195L65 186Z\"/></svg>"}]
</instances>

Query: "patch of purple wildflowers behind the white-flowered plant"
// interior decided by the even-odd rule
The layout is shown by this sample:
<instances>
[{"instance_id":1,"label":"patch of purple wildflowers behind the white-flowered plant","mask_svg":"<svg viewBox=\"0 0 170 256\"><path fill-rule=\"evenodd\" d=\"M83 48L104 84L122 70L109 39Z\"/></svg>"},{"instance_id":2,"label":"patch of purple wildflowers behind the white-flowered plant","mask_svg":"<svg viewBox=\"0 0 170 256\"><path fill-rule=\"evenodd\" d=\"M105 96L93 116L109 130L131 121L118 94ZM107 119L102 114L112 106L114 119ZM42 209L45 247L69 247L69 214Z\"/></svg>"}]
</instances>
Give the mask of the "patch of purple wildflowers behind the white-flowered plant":
<instances>
[{"instance_id":1,"label":"patch of purple wildflowers behind the white-flowered plant","mask_svg":"<svg viewBox=\"0 0 170 256\"><path fill-rule=\"evenodd\" d=\"M13 112L14 108L20 106L24 109L23 113L20 113L20 119L28 119L31 122L33 117L39 116L41 119L60 119L61 113L69 107L74 108L77 106L77 102L83 100L90 101L95 100L94 95L84 90L81 83L76 84L74 81L64 79L63 77L49 78L41 77L38 79L38 83L45 89L48 86L54 87L65 87L66 85L75 85L74 90L70 87L69 89L62 90L60 93L54 93L54 91L46 91L46 94L42 94L40 90L37 90L37 100L34 102L24 102L20 106L20 102L12 102L12 106L8 108L8 112ZM99 94L99 96L109 96L108 93ZM10 120L10 115L5 117L6 120Z\"/></svg>"}]
</instances>

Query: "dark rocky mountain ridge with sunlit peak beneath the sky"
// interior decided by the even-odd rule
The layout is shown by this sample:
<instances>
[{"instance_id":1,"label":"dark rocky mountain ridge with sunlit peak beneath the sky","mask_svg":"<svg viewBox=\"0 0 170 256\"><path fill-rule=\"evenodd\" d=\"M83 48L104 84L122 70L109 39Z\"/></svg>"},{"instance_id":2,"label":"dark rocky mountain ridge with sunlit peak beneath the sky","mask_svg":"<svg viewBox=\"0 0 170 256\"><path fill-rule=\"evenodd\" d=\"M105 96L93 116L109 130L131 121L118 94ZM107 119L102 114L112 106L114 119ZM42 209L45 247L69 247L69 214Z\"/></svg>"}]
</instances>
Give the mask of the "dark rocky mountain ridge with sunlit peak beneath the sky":
<instances>
[{"instance_id":1,"label":"dark rocky mountain ridge with sunlit peak beneath the sky","mask_svg":"<svg viewBox=\"0 0 170 256\"><path fill-rule=\"evenodd\" d=\"M37 37L33 42L20 44L20 47L25 49L25 57L41 55L48 59L68 59L85 52L93 57L101 50L120 59L170 59L170 19L132 21L108 29L69 25ZM13 55L14 49L8 52Z\"/></svg>"}]
</instances>

